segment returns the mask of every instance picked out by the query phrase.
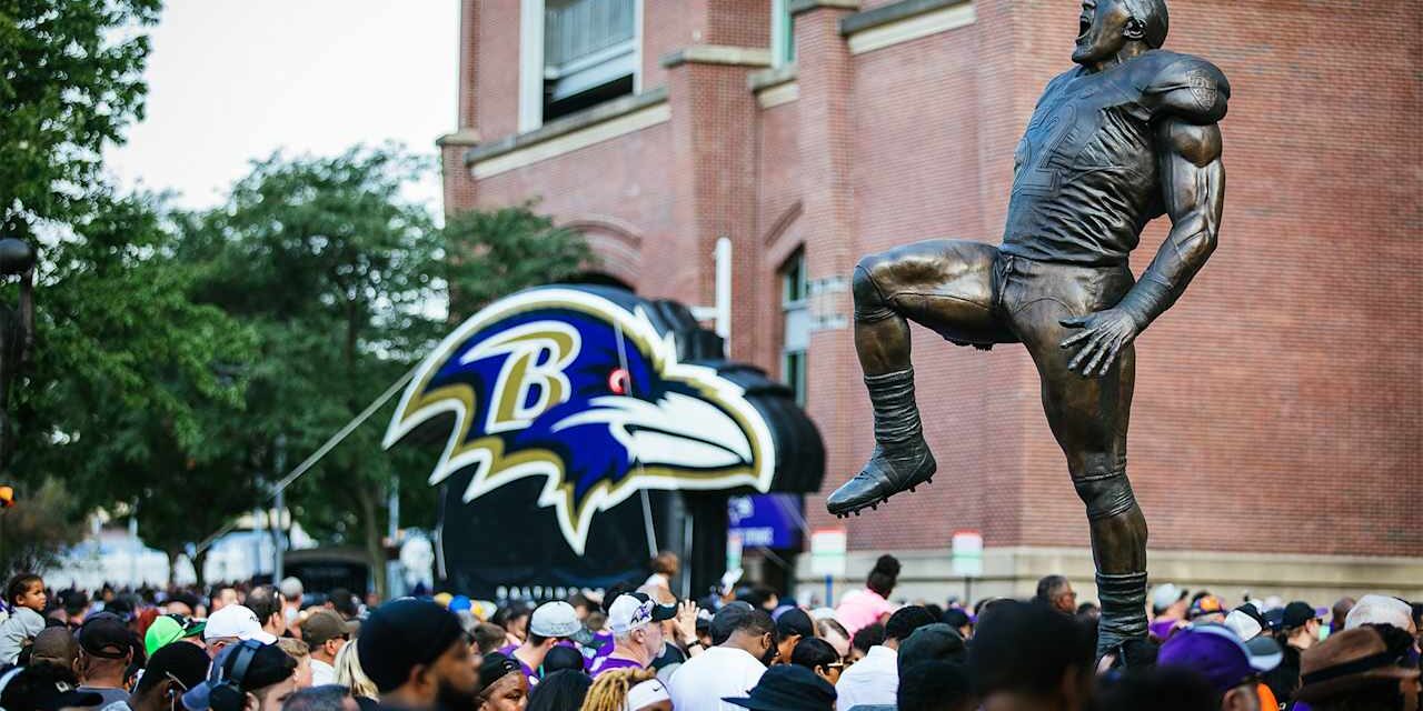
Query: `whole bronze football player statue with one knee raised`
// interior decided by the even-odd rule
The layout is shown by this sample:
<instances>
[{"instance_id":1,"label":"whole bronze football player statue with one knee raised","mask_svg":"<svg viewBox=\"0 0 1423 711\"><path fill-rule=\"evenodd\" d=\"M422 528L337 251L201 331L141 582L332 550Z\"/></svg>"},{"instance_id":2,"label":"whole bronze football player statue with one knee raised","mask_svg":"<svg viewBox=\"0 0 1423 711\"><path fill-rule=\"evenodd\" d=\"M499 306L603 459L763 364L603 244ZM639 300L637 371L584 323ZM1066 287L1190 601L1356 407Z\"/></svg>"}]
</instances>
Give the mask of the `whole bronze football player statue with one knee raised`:
<instances>
[{"instance_id":1,"label":"whole bronze football player statue with one knee raised","mask_svg":"<svg viewBox=\"0 0 1423 711\"><path fill-rule=\"evenodd\" d=\"M909 320L959 346L1022 343L1087 508L1100 656L1147 630L1147 525L1127 482L1131 341L1215 249L1229 84L1211 63L1161 48L1165 0L1081 7L1077 67L1047 84L1017 145L1003 243L919 242L855 267L855 350L877 447L828 509L858 513L933 476ZM1160 215L1171 232L1134 280L1127 256Z\"/></svg>"}]
</instances>

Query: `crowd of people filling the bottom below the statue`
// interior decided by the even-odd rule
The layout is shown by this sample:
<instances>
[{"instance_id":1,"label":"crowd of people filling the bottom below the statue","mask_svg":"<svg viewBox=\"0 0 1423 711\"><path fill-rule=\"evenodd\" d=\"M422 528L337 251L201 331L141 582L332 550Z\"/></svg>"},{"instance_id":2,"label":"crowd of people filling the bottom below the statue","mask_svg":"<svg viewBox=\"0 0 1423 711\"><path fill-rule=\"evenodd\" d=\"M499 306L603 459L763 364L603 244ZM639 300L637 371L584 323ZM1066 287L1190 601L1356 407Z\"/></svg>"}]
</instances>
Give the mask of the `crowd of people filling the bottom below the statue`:
<instances>
[{"instance_id":1,"label":"crowd of people filling the bottom below the statue","mask_svg":"<svg viewBox=\"0 0 1423 711\"><path fill-rule=\"evenodd\" d=\"M4 711L1419 711L1423 606L1385 594L1228 606L1151 590L1150 637L1099 654L1096 609L1044 577L1030 600L896 604L899 563L834 609L723 579L531 606L465 596L320 602L277 586L51 593L13 577Z\"/></svg>"}]
</instances>

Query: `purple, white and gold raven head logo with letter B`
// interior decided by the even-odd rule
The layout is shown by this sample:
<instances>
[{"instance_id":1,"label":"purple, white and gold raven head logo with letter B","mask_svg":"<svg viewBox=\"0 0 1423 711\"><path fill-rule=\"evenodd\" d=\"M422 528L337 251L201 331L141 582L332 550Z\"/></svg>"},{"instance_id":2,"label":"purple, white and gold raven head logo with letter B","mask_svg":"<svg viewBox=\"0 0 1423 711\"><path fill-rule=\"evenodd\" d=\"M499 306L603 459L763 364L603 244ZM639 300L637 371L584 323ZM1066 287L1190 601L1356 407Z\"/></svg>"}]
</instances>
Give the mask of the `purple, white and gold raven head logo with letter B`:
<instances>
[{"instance_id":1,"label":"purple, white and gold raven head logo with letter B","mask_svg":"<svg viewBox=\"0 0 1423 711\"><path fill-rule=\"evenodd\" d=\"M386 447L453 414L430 483L471 468L468 503L544 476L538 505L579 555L593 515L639 489L767 491L773 438L741 387L679 361L672 334L629 303L555 286L491 304L420 364Z\"/></svg>"}]
</instances>

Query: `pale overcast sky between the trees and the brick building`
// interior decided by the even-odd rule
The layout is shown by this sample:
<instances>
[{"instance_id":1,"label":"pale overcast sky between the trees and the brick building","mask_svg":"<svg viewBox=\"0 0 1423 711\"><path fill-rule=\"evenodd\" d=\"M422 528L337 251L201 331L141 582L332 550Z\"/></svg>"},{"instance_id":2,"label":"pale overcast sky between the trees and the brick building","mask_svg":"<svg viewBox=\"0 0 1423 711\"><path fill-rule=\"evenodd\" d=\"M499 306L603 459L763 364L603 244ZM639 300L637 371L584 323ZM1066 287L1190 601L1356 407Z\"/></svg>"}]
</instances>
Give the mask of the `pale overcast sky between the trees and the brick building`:
<instances>
[{"instance_id":1,"label":"pale overcast sky between the trees and the brick building","mask_svg":"<svg viewBox=\"0 0 1423 711\"><path fill-rule=\"evenodd\" d=\"M398 141L434 155L454 129L457 0L166 0L147 118L107 164L124 186L222 202L248 162ZM438 208L438 179L413 196Z\"/></svg>"}]
</instances>

